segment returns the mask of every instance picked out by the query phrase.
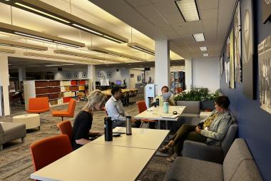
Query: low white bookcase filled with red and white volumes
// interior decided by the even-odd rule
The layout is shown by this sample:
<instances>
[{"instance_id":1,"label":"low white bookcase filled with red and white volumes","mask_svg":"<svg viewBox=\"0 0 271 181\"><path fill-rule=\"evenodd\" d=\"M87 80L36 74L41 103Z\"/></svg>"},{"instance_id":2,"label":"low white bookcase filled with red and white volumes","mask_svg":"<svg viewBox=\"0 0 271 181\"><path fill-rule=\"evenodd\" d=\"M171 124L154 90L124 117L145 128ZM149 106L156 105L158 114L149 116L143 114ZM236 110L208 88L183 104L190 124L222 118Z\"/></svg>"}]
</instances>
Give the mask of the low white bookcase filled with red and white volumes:
<instances>
[{"instance_id":1,"label":"low white bookcase filled with red and white volumes","mask_svg":"<svg viewBox=\"0 0 271 181\"><path fill-rule=\"evenodd\" d=\"M48 97L50 106L68 103L71 98L86 100L88 79L24 81L26 109L29 98Z\"/></svg>"}]
</instances>

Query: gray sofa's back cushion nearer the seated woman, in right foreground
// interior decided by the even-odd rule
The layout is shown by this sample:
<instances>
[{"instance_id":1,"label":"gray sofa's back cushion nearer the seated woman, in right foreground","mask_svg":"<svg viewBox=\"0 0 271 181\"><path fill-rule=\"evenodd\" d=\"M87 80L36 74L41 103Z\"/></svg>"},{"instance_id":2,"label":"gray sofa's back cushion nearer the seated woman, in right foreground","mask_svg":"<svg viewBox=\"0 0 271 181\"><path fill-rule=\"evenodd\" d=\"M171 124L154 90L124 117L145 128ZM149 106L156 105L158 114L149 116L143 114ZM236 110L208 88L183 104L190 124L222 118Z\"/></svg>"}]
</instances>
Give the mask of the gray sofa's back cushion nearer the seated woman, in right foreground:
<instances>
[{"instance_id":1,"label":"gray sofa's back cushion nearer the seated woman, in right foreground","mask_svg":"<svg viewBox=\"0 0 271 181\"><path fill-rule=\"evenodd\" d=\"M232 143L223 162L224 180L230 180L243 160L252 160L245 140L237 138Z\"/></svg>"}]
</instances>

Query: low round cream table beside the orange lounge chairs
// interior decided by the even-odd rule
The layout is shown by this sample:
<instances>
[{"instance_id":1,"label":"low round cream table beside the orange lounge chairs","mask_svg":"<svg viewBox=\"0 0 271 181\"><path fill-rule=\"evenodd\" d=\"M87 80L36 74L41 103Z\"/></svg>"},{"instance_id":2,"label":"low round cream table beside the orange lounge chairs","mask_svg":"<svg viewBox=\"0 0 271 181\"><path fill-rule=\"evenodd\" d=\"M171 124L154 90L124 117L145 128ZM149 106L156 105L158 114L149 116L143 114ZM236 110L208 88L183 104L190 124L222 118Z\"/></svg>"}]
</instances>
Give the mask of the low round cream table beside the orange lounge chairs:
<instances>
[{"instance_id":1,"label":"low round cream table beside the orange lounge chairs","mask_svg":"<svg viewBox=\"0 0 271 181\"><path fill-rule=\"evenodd\" d=\"M26 124L26 130L32 128L39 128L40 130L41 125L39 114L16 115L12 118L12 122Z\"/></svg>"}]
</instances>

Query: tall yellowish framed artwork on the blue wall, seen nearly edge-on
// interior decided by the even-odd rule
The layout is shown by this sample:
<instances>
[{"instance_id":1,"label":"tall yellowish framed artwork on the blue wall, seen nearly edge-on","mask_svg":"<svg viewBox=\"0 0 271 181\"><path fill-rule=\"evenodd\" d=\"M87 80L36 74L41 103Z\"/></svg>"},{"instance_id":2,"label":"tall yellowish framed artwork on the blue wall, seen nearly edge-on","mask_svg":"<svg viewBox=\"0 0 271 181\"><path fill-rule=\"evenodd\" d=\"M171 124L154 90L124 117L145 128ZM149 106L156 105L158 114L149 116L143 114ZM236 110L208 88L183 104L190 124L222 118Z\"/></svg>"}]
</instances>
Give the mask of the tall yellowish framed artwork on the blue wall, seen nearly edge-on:
<instances>
[{"instance_id":1,"label":"tall yellowish framed artwork on the blue wall, seen nearly edge-on","mask_svg":"<svg viewBox=\"0 0 271 181\"><path fill-rule=\"evenodd\" d=\"M234 29L230 31L230 88L235 88L235 48Z\"/></svg>"}]
</instances>

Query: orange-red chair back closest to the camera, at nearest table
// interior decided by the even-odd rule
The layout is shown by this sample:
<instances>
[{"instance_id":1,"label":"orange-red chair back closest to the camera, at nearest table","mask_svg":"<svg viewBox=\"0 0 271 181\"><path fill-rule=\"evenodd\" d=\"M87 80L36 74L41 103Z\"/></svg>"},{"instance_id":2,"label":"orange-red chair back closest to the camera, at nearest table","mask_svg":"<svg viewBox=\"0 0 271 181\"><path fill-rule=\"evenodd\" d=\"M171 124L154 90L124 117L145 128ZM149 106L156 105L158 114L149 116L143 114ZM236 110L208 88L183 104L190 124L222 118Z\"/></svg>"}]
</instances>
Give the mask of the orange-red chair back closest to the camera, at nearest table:
<instances>
[{"instance_id":1,"label":"orange-red chair back closest to the camera, at nearest table","mask_svg":"<svg viewBox=\"0 0 271 181\"><path fill-rule=\"evenodd\" d=\"M68 135L44 138L30 145L35 171L73 151Z\"/></svg>"}]
</instances>

